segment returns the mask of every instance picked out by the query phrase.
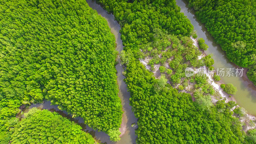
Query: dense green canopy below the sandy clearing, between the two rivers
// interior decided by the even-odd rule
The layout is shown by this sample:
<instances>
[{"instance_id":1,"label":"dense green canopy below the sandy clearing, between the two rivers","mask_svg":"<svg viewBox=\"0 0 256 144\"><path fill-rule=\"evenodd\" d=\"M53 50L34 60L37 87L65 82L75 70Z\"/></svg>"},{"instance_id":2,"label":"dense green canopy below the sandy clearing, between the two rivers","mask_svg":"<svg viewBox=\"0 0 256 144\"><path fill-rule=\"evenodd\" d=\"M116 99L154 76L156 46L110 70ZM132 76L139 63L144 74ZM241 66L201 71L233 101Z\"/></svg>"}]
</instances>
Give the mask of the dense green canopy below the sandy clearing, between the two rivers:
<instances>
[{"instance_id":1,"label":"dense green canopy below the sandy clearing, between the two rivers","mask_svg":"<svg viewBox=\"0 0 256 144\"><path fill-rule=\"evenodd\" d=\"M219 101L202 109L190 94L178 93L169 84L155 91L157 79L139 62L127 67L125 82L131 105L138 117L137 143L241 143L238 118L232 116L234 103Z\"/></svg>"}]
</instances>

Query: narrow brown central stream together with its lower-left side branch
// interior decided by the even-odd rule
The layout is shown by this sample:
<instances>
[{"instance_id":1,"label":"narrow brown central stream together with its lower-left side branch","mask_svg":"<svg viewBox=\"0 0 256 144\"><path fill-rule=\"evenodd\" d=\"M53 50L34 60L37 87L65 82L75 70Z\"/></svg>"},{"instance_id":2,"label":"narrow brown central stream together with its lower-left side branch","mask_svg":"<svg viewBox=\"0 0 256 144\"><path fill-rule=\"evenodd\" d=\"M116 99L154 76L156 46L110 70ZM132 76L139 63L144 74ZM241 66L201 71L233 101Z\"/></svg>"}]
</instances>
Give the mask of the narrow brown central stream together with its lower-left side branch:
<instances>
[{"instance_id":1,"label":"narrow brown central stream together with its lower-left side branch","mask_svg":"<svg viewBox=\"0 0 256 144\"><path fill-rule=\"evenodd\" d=\"M106 12L100 4L97 4L95 0L86 0L86 2L89 4L89 6L93 9L96 10L99 15L104 17L108 21L108 26L111 28L111 32L115 35L116 38L116 50L118 52L121 52L123 50L123 42L121 40L121 34L119 33L120 25L118 22L114 19L114 15ZM120 60L119 60L120 61ZM118 142L112 142L109 140L109 136L105 132L98 132L90 128L88 125L84 124L84 120L81 117L77 118L72 118L72 115L68 115L66 111L62 111L58 108L58 105L51 105L50 101L44 101L44 103L39 103L39 104L32 104L29 108L24 108L22 111L24 113L28 112L30 108L36 107L39 109L48 109L50 111L55 111L62 115L63 117L67 117L71 121L74 121L75 123L79 124L85 132L89 132L95 140L101 143L116 143L116 144L135 144L135 140L137 136L135 135L135 128L132 127L132 123L137 123L137 118L135 118L134 113L132 112L132 107L129 105L129 98L130 98L130 93L127 92L127 85L124 83L123 79L125 78L122 75L123 68L120 64L116 65L116 70L117 70L117 83L119 86L119 94L118 96L120 97L122 101L122 108L123 108L123 121L122 121L122 128L124 128L126 131L123 133L124 129L121 129L120 131L122 132L121 134L121 140ZM19 115L21 117L21 115Z\"/></svg>"}]
</instances>

